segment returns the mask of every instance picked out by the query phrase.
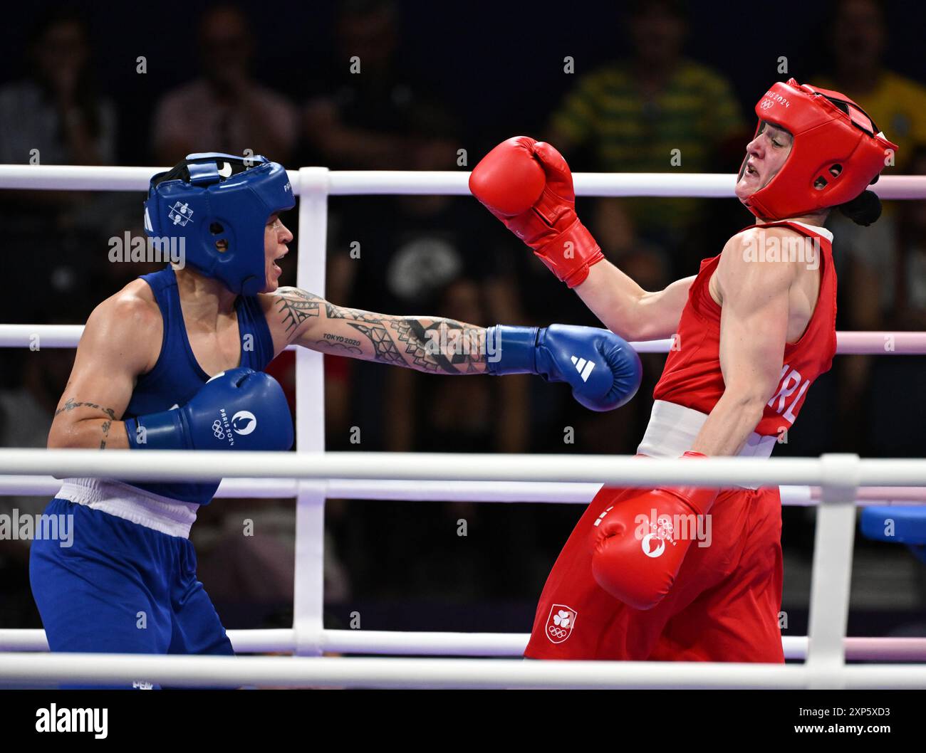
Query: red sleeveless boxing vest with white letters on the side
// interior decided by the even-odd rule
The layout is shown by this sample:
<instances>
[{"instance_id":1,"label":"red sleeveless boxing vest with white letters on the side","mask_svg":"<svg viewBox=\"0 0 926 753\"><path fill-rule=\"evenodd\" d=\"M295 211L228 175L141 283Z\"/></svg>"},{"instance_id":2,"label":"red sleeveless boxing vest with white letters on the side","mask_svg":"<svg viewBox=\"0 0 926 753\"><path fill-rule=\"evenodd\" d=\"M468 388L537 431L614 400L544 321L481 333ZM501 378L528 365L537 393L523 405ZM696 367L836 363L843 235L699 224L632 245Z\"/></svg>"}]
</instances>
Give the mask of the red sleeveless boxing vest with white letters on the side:
<instances>
[{"instance_id":1,"label":"red sleeveless boxing vest with white letters on the side","mask_svg":"<svg viewBox=\"0 0 926 753\"><path fill-rule=\"evenodd\" d=\"M757 434L770 437L794 424L807 389L832 366L836 352L836 272L832 265L832 243L825 236L795 222L775 222L762 227L792 228L805 236L805 242L819 243L819 251L814 251L821 271L820 295L813 315L801 338L794 344L785 344L778 389L756 426ZM719 262L720 254L701 262L688 291L688 302L682 309L677 339L653 390L654 400L674 402L703 414L714 409L725 389L720 373L720 306L707 290Z\"/></svg>"}]
</instances>

